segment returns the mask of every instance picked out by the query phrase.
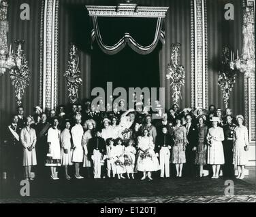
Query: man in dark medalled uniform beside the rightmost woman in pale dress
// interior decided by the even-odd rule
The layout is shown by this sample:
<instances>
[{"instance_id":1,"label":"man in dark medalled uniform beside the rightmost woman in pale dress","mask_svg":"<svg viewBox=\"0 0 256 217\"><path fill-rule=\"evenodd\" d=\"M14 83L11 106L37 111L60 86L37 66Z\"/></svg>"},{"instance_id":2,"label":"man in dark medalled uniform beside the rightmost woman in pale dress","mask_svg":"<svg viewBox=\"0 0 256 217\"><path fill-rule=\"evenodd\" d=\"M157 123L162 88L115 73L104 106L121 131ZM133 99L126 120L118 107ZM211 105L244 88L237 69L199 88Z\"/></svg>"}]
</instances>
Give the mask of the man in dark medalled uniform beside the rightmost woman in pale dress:
<instances>
[{"instance_id":1,"label":"man in dark medalled uniform beside the rightmost woman in pale dress","mask_svg":"<svg viewBox=\"0 0 256 217\"><path fill-rule=\"evenodd\" d=\"M234 165L233 165L233 143L234 143L234 130L236 124L232 123L231 115L226 117L227 123L223 125L223 131L225 140L223 141L224 157L225 157L225 166L224 166L224 175L233 176L234 175Z\"/></svg>"}]
</instances>

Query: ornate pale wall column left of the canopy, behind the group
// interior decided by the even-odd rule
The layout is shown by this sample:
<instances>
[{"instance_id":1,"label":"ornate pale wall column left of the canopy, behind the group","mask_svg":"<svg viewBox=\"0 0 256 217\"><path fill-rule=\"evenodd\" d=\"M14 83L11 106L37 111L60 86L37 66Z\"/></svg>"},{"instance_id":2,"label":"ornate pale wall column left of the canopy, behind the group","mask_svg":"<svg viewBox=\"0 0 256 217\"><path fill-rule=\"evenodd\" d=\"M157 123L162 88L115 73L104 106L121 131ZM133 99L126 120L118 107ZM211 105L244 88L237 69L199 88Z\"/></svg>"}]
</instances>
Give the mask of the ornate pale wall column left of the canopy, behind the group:
<instances>
[{"instance_id":1,"label":"ornate pale wall column left of the canopy, behind the group","mask_svg":"<svg viewBox=\"0 0 256 217\"><path fill-rule=\"evenodd\" d=\"M59 0L42 1L40 106L43 110L57 106Z\"/></svg>"}]
</instances>

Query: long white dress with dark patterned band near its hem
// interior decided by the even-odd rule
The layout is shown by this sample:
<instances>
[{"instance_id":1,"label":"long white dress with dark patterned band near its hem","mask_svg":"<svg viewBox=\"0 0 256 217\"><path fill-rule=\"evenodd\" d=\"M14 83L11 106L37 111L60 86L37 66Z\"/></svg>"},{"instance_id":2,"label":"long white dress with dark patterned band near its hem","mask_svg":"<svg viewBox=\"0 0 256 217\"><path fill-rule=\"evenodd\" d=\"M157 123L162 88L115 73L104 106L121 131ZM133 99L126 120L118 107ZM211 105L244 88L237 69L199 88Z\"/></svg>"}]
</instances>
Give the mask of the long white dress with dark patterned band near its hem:
<instances>
[{"instance_id":1,"label":"long white dress with dark patterned band near its hem","mask_svg":"<svg viewBox=\"0 0 256 217\"><path fill-rule=\"evenodd\" d=\"M61 131L50 127L47 133L47 142L50 142L50 153L46 156L46 166L60 166L61 165Z\"/></svg>"}]
</instances>

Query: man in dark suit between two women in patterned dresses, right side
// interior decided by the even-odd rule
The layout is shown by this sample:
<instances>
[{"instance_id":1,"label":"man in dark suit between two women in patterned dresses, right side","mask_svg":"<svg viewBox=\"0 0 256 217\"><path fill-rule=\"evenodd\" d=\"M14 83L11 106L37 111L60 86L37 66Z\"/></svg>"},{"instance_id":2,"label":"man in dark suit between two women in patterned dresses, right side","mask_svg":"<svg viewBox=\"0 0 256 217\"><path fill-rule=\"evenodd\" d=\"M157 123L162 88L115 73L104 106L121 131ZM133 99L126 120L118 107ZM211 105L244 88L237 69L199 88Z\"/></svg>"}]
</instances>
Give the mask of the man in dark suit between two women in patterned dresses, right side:
<instances>
[{"instance_id":1,"label":"man in dark suit between two women in patterned dresses, right side","mask_svg":"<svg viewBox=\"0 0 256 217\"><path fill-rule=\"evenodd\" d=\"M198 144L198 130L197 125L192 123L191 115L186 115L187 123L184 125L187 129L188 144L186 147L186 170L185 174L188 176L195 176L195 150Z\"/></svg>"}]
</instances>

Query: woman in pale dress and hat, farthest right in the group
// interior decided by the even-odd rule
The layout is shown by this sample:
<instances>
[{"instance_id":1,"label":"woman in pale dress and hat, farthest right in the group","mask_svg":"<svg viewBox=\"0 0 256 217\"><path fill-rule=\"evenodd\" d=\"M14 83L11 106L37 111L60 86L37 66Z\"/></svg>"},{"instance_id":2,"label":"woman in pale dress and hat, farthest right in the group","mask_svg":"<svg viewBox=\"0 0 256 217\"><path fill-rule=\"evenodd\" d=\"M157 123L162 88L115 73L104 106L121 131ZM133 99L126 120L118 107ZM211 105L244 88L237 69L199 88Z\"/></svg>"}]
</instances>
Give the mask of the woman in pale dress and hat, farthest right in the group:
<instances>
[{"instance_id":1,"label":"woman in pale dress and hat, farthest right in the group","mask_svg":"<svg viewBox=\"0 0 256 217\"><path fill-rule=\"evenodd\" d=\"M244 117L242 115L236 116L236 121L238 126L235 128L234 132L234 157L233 164L238 167L238 176L236 178L244 178L244 167L248 161L247 151L249 146L248 140L248 130L242 125L244 122Z\"/></svg>"}]
</instances>

